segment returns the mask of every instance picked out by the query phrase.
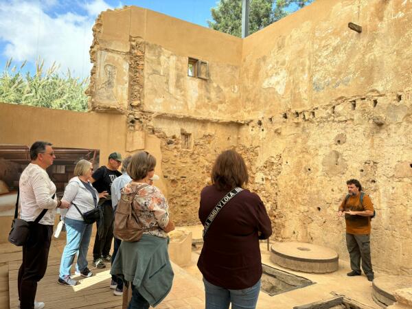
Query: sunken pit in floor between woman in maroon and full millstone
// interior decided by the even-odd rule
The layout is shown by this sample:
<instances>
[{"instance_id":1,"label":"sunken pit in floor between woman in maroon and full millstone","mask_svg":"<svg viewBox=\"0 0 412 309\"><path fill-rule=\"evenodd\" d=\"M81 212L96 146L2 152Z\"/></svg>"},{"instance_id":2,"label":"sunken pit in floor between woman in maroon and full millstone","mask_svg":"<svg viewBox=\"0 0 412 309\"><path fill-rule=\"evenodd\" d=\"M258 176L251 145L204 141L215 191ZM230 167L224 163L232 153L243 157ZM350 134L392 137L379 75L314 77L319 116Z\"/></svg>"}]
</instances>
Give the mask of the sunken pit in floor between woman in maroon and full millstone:
<instances>
[{"instance_id":1,"label":"sunken pit in floor between woman in maroon and full millstone","mask_svg":"<svg viewBox=\"0 0 412 309\"><path fill-rule=\"evenodd\" d=\"M260 290L269 296L296 290L297 288L304 288L315 283L304 277L286 273L286 271L281 271L266 264L262 264L262 270L262 286Z\"/></svg>"}]
</instances>

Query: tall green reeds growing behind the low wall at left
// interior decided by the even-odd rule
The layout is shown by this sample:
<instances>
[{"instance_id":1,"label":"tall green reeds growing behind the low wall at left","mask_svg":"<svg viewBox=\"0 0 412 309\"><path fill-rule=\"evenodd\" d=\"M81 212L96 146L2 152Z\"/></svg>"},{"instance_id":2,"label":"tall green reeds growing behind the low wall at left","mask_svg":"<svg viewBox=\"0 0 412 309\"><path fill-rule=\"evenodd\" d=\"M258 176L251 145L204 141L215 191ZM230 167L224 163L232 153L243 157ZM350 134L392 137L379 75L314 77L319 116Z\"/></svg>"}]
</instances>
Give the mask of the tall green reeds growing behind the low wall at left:
<instances>
[{"instance_id":1,"label":"tall green reeds growing behind the low wall at left","mask_svg":"<svg viewBox=\"0 0 412 309\"><path fill-rule=\"evenodd\" d=\"M58 65L53 63L44 69L44 60L36 61L36 72L23 73L26 62L19 68L8 60L0 75L0 102L25 104L30 106L87 111L87 96L84 91L89 78L80 80L58 73Z\"/></svg>"}]
</instances>

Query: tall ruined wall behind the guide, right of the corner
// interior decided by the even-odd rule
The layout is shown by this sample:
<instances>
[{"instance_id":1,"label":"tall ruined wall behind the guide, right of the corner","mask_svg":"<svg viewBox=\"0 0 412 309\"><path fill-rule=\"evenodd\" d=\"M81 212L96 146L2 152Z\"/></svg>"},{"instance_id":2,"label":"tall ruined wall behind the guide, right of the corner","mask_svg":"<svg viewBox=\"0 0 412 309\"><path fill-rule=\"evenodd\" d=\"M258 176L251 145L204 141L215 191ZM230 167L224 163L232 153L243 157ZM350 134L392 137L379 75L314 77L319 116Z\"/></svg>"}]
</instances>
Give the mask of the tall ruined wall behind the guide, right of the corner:
<instances>
[{"instance_id":1,"label":"tall ruined wall behind the guide, right of the corner","mask_svg":"<svg viewBox=\"0 0 412 309\"><path fill-rule=\"evenodd\" d=\"M374 267L412 273L411 21L412 1L317 0L244 40L250 123L240 144L257 152L251 187L273 214L274 238L323 244L347 260L336 209L356 178L377 211ZM275 170L266 167L273 158Z\"/></svg>"}]
</instances>

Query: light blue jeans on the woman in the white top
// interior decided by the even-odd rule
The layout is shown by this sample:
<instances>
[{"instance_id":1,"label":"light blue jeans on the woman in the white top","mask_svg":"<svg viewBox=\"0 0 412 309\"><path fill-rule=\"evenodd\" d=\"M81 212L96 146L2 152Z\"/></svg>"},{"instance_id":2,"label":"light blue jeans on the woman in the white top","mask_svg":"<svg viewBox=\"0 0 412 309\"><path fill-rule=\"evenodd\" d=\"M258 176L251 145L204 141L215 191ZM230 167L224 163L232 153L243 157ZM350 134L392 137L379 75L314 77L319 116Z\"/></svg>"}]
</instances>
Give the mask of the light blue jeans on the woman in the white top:
<instances>
[{"instance_id":1,"label":"light blue jeans on the woman in the white top","mask_svg":"<svg viewBox=\"0 0 412 309\"><path fill-rule=\"evenodd\" d=\"M60 262L60 274L62 278L70 275L71 264L73 264L74 255L78 254L76 271L84 271L87 268L87 251L91 237L93 225L87 225L82 220L65 218L67 242L63 251Z\"/></svg>"}]
</instances>

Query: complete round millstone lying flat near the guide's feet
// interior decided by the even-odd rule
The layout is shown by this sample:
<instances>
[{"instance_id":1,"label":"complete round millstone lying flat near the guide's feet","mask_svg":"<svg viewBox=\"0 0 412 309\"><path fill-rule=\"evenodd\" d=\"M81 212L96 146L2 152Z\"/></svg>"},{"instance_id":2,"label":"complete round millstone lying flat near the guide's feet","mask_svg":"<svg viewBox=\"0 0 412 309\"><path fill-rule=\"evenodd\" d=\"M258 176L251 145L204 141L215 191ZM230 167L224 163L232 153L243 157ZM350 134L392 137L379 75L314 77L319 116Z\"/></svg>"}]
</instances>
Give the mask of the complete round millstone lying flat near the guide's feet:
<instances>
[{"instance_id":1,"label":"complete round millstone lying flat near the guide's feet","mask_svg":"<svg viewBox=\"0 0 412 309\"><path fill-rule=\"evenodd\" d=\"M332 273L339 267L336 251L306 242L275 242L271 247L271 261L305 273Z\"/></svg>"}]
</instances>

